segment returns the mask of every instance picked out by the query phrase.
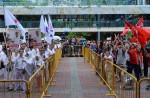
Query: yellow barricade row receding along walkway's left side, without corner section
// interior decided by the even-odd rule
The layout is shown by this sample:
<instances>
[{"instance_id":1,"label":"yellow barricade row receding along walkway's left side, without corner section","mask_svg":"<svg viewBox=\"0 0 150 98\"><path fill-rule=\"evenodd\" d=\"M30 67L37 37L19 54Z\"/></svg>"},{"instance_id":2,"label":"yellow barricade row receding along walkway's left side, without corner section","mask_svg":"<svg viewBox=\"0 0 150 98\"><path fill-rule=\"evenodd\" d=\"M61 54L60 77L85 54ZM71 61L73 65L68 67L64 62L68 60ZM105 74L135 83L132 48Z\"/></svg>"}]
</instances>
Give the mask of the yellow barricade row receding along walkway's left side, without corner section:
<instances>
[{"instance_id":1,"label":"yellow barricade row receding along walkway's left side, without corner section","mask_svg":"<svg viewBox=\"0 0 150 98\"><path fill-rule=\"evenodd\" d=\"M56 73L59 60L61 58L61 49L49 57L29 79L29 91L31 98L42 98L47 96L47 89L53 84L53 78ZM48 95L51 96L51 95Z\"/></svg>"}]
</instances>

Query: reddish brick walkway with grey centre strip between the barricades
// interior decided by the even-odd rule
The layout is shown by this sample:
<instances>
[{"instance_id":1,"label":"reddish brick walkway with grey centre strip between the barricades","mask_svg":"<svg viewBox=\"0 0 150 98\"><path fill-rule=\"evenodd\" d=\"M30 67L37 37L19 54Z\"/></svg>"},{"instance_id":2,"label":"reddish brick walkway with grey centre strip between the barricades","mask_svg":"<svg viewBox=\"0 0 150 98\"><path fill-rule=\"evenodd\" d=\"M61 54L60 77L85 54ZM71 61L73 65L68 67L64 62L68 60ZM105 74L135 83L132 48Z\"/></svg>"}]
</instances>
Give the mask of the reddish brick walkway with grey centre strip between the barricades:
<instances>
[{"instance_id":1,"label":"reddish brick walkway with grey centre strip between the barricades","mask_svg":"<svg viewBox=\"0 0 150 98\"><path fill-rule=\"evenodd\" d=\"M83 57L62 58L54 80L56 85L49 87L47 92L51 98L114 98L105 95L108 88L101 85Z\"/></svg>"}]
</instances>

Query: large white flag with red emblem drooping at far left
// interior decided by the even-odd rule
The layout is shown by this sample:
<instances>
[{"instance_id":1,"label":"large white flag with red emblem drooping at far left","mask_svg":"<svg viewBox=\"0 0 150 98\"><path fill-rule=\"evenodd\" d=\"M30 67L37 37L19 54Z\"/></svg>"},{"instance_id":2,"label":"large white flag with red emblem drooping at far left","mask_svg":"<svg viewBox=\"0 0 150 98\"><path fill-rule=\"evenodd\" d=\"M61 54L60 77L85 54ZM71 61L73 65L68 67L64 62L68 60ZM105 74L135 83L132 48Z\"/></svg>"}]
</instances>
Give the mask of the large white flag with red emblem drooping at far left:
<instances>
[{"instance_id":1,"label":"large white flag with red emblem drooping at far left","mask_svg":"<svg viewBox=\"0 0 150 98\"><path fill-rule=\"evenodd\" d=\"M10 26L10 25L16 25L18 27L19 30L21 30L22 36L23 36L23 42L26 42L26 38L25 38L25 29L22 27L22 25L20 24L20 22L16 19L16 17L6 8L4 8L4 17L5 17L5 24L6 26Z\"/></svg>"}]
</instances>

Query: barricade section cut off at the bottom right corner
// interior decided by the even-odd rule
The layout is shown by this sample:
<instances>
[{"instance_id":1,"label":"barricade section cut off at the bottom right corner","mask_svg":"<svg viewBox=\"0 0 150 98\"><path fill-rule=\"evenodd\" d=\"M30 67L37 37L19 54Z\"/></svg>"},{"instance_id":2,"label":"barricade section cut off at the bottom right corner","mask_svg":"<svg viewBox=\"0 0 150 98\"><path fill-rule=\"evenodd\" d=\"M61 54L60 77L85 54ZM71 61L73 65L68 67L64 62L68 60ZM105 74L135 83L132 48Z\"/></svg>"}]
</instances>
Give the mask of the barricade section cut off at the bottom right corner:
<instances>
[{"instance_id":1,"label":"barricade section cut off at the bottom right corner","mask_svg":"<svg viewBox=\"0 0 150 98\"><path fill-rule=\"evenodd\" d=\"M138 83L138 98L150 97L150 78L143 78Z\"/></svg>"}]
</instances>

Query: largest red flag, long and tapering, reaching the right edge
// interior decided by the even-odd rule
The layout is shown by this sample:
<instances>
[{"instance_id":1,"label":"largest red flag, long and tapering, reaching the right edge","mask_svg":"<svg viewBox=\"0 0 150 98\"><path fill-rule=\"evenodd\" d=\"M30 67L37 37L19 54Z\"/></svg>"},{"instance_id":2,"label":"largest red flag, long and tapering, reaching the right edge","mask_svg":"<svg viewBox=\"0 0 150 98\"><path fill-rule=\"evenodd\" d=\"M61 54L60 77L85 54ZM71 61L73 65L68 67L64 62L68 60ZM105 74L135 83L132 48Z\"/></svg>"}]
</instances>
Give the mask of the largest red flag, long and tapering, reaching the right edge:
<instances>
[{"instance_id":1,"label":"largest red flag, long and tapering, reaching the right edge","mask_svg":"<svg viewBox=\"0 0 150 98\"><path fill-rule=\"evenodd\" d=\"M149 33L147 33L146 31L144 31L143 29L141 28L138 28L132 24L130 24L129 22L127 22L124 18L122 18L124 20L124 22L128 25L128 27L132 30L137 30L138 32L138 35L137 35L137 38L138 38L138 41L140 42L140 44L144 47L145 46L145 43L147 41L147 39L149 38ZM135 35L134 35L135 36Z\"/></svg>"}]
</instances>

